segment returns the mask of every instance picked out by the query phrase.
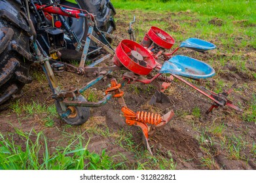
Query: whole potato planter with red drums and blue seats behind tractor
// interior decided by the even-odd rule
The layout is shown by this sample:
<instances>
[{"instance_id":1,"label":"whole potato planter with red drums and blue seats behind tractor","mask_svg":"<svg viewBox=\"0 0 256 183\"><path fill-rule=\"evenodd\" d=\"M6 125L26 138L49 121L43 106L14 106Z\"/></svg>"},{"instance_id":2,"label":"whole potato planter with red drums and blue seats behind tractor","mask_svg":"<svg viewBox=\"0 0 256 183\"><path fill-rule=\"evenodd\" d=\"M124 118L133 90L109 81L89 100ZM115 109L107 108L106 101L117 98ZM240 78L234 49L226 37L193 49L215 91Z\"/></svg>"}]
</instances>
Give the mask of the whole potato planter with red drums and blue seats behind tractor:
<instances>
[{"instance_id":1,"label":"whole potato planter with red drums and blue seats behind tractor","mask_svg":"<svg viewBox=\"0 0 256 183\"><path fill-rule=\"evenodd\" d=\"M134 112L126 105L122 88L126 84L135 82L155 84L157 89L151 98L151 105L156 102L165 103L170 102L170 99L163 92L170 86L170 84L172 84L174 78L184 82L213 102L207 113L211 112L213 108L224 107L226 105L235 110L242 111L240 108L233 105L232 101L227 98L230 92L232 92L233 87L222 93L214 93L206 88L198 88L191 82L185 80L185 78L200 80L212 77L215 75L215 71L210 65L187 56L174 56L174 53L180 48L189 48L198 52L204 52L215 49L216 47L214 44L200 39L190 38L181 42L180 46L170 53L169 50L175 43L174 39L162 29L151 27L140 44L134 42L134 40L122 39L120 40L120 44L114 50L108 40L109 38L113 39L117 37L100 31L93 14L73 7L64 7L58 3L52 3L50 5L35 4L34 7L37 9L37 12L49 16L50 20L58 15L59 22L57 25L64 25L62 27L64 27L65 31L69 32L69 38L77 42L77 44L74 44L75 50L82 52L79 67L64 63L59 60L60 54L58 49L55 49L54 52L45 52L43 46L39 44L39 41L36 39L37 33L33 31L34 34L31 42L33 43L33 52L36 58L35 62L42 65L50 89L52 90L52 97L56 100L58 113L67 124L83 124L90 116L90 107L99 107L105 105L111 98L117 98L126 124L136 125L142 130L143 142L152 154L151 147L149 146L149 135L153 135L156 130L161 129L168 124L174 117L174 111L171 110L163 116L144 111ZM27 9L27 12L29 12L29 9ZM67 24L65 24L64 17L83 18L86 20L88 33L85 42L77 41L75 33L69 29ZM54 22L56 22L56 20L54 20ZM35 30L33 24L30 24L30 28L31 30ZM61 29L56 28L56 26L54 27L54 25L50 28L52 28L51 30L48 29L50 43L56 44L57 46L65 44L63 31L60 31ZM134 33L131 26L129 33L132 35L130 37L134 39ZM105 56L94 61L90 65L85 65L89 52L94 52L90 51L90 45L96 46L94 50L103 49L108 54L105 54ZM109 67L96 67L96 65L102 61L110 58L113 65ZM162 59L160 58L164 58L164 61L161 61ZM111 79L111 86L108 88L106 87L105 96L102 99L97 102L91 102L86 101L82 96L84 91L88 90L91 86L94 86L94 84L105 76L113 71L120 70L126 71L126 73L122 75L121 82L118 83L115 78ZM62 90L54 76L54 71L68 71L77 73L78 75L92 73L95 78L80 89L70 87L69 90Z\"/></svg>"}]
</instances>

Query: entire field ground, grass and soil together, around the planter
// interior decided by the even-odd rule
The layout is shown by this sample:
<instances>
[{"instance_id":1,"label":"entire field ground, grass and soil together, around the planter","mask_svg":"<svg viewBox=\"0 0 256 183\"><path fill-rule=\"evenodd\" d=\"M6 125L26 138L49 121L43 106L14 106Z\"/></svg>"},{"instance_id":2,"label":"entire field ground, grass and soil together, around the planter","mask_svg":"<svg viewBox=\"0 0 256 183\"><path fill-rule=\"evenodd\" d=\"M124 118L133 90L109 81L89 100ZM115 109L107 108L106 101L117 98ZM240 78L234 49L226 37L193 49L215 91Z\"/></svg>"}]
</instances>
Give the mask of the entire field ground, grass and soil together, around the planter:
<instances>
[{"instance_id":1,"label":"entire field ground, grass and soil together, around the planter","mask_svg":"<svg viewBox=\"0 0 256 183\"><path fill-rule=\"evenodd\" d=\"M33 67L33 82L25 86L20 100L0 113L0 169L256 169L256 2L156 5L115 0L113 4L117 7L115 35L120 37L128 38L128 24L136 15L137 42L152 25L174 37L172 50L189 37L213 42L216 50L199 53L183 48L177 54L200 59L215 69L216 75L202 83L214 92L229 89L237 80L230 99L244 112L224 107L206 115L210 101L176 84L166 91L171 104L150 106L154 87L130 84L124 88L124 99L132 110L175 112L172 122L150 137L151 156L141 143L141 131L124 123L115 99L90 108L91 116L81 126L62 122L43 72ZM111 75L118 80L121 76ZM92 79L69 73L57 77L64 88ZM111 77L88 90L87 99L100 99Z\"/></svg>"}]
</instances>

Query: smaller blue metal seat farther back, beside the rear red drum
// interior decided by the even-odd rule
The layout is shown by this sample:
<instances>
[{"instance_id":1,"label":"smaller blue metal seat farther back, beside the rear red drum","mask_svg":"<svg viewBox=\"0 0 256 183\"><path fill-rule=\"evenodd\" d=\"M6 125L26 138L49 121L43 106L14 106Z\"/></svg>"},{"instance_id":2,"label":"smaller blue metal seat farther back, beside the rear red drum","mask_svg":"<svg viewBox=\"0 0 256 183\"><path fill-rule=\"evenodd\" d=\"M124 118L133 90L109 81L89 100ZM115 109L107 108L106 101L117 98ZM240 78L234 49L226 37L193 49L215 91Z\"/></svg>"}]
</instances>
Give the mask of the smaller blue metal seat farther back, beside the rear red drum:
<instances>
[{"instance_id":1,"label":"smaller blue metal seat farther back, beside the rear red drum","mask_svg":"<svg viewBox=\"0 0 256 183\"><path fill-rule=\"evenodd\" d=\"M204 52L204 51L213 50L216 48L216 46L211 42L207 42L197 38L189 38L186 41L181 42L181 45L179 46L179 48L182 48L182 47L190 48L198 52Z\"/></svg>"}]
</instances>

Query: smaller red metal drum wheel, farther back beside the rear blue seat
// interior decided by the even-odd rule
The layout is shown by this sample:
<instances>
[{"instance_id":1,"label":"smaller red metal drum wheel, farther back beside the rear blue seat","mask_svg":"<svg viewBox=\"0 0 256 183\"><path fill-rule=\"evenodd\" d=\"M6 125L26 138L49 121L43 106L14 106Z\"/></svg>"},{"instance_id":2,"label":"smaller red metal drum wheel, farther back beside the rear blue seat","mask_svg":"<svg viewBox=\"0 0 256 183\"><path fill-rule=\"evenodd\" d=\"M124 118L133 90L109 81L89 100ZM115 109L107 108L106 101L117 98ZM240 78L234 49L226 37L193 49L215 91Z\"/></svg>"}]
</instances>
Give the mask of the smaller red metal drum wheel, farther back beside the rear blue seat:
<instances>
[{"instance_id":1,"label":"smaller red metal drum wheel, farther back beside the rear blue seat","mask_svg":"<svg viewBox=\"0 0 256 183\"><path fill-rule=\"evenodd\" d=\"M170 49L175 43L174 39L168 35L168 33L158 27L151 27L147 35L153 42L162 48Z\"/></svg>"}]
</instances>

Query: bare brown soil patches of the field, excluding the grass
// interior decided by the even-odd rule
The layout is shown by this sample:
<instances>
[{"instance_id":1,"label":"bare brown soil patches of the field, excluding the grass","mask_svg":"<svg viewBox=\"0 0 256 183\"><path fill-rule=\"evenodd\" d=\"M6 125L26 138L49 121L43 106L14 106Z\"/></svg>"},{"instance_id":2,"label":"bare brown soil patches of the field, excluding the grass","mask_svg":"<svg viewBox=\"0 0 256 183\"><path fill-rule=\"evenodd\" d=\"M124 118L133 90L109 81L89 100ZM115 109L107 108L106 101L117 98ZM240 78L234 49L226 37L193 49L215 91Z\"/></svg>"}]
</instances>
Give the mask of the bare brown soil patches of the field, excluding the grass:
<instances>
[{"instance_id":1,"label":"bare brown soil patches of the field, excluding the grass","mask_svg":"<svg viewBox=\"0 0 256 183\"><path fill-rule=\"evenodd\" d=\"M120 37L127 37L126 29L128 27L128 20L122 18L127 12L122 12L117 14L117 27L119 29L115 32ZM136 10L130 12L131 14L140 14L137 19L140 21L155 21L148 14L143 14L143 12L137 12ZM180 12L180 14L191 14L191 12ZM176 14L172 14L175 16ZM139 21L137 20L137 21ZM166 16L166 22L170 19ZM198 20L195 20L198 21ZM210 24L222 25L222 20L210 21ZM193 24L193 22L189 22ZM167 31L185 31L182 29L179 22L174 22L174 24L168 27ZM117 46L117 41L115 41L114 46ZM218 42L215 42L218 44ZM255 53L255 49L247 48L244 50L244 54L247 58L255 59L251 54ZM179 54L189 55L192 58L198 58L207 61L210 58L220 58L225 57L225 55L216 55L215 50L211 52L206 52L205 54L196 54L192 50L181 50ZM255 67L248 65L249 69L254 69ZM33 69L38 70L42 73L41 69L38 67L33 67ZM231 83L234 82L234 78L238 81L236 90L230 94L234 105L238 105L241 108L248 107L248 103L252 101L251 93L255 93L255 79L251 78L249 75L240 73L236 67L232 65L226 65L221 68L223 72L217 72L217 78L210 78L208 82L203 82L202 86L208 86L211 90L215 90L217 87L217 80L221 79L224 82ZM215 68L218 71L218 68ZM117 78L120 80L122 74L120 72L114 72L111 76L107 77L106 80L101 80L93 86L97 93L103 93L110 83L111 78ZM71 73L58 73L58 80L60 81L60 86L67 88L68 86L81 87L86 82L92 80L92 77L77 76ZM180 86L184 86L181 82L177 82ZM247 86L244 86L247 83ZM226 87L227 89L228 87ZM176 163L176 169L256 169L255 152L253 152L253 143L255 145L256 139L256 124L255 122L246 122L243 120L243 113L236 112L228 107L214 109L209 115L205 112L211 106L211 103L205 98L200 96L193 90L187 87L187 90L194 93L188 93L182 90L176 84L172 84L168 90L166 90L166 95L170 98L171 103L156 103L156 105L148 105L152 95L155 93L155 88L143 84L131 84L122 89L125 93L124 99L126 105L134 111L147 110L149 112L158 112L161 115L165 114L169 110L174 110L175 116L166 125L164 129L157 131L155 135L149 137L149 144L153 151L153 156L156 158L164 158L167 160L173 159ZM243 92L239 92L243 91ZM202 100L201 98L204 98ZM33 80L31 84L27 84L24 87L23 95L20 98L20 103L31 104L33 101L44 105L53 105L54 99L51 97L50 89L46 80L38 81ZM195 114L194 108L199 108L199 114ZM17 115L12 111L11 108L2 111L0 113L0 131L4 135L14 134L14 141L18 144L24 144L24 140L15 135L15 128L22 129L22 131L29 132L31 129L35 131L43 131L48 139L49 149L54 149L57 146L65 146L69 143L68 137L65 136L67 133L75 133L81 135L84 139L90 139L88 145L88 150L100 153L101 150L105 149L109 156L116 156L117 154L122 154L126 158L126 166L136 167L136 163L149 161L146 156L150 156L147 151L145 151L145 146L141 142L141 131L135 126L128 126L124 122L122 112L120 111L120 105L117 99L111 99L106 105L97 108L90 108L90 119L88 122L81 126L71 126L65 124L61 118L55 117L54 125L51 127L46 127L44 122L41 120L45 118L47 114L32 114L27 115L26 111L22 114ZM221 133L216 133L213 129L216 126L223 126L223 131ZM98 127L103 131L109 130L109 133L118 134L120 131L125 131L125 133L130 133L132 142L132 148L136 149L137 152L144 152L144 155L137 153L134 150L128 148L125 139L121 139L121 142L117 142L115 135L102 135L102 133L84 133L85 130L90 129L90 127ZM126 136L127 137L127 136ZM202 140L202 137L205 139ZM233 137L241 137L244 146L240 149L238 158L230 153L229 142L235 144L238 141L232 139ZM122 144L122 146L120 145ZM255 151L255 150L254 150ZM210 159L211 163L206 163L203 159ZM120 158L116 156L115 161L121 161ZM123 161L123 160L122 160ZM157 165L149 167L151 169L160 169Z\"/></svg>"}]
</instances>

